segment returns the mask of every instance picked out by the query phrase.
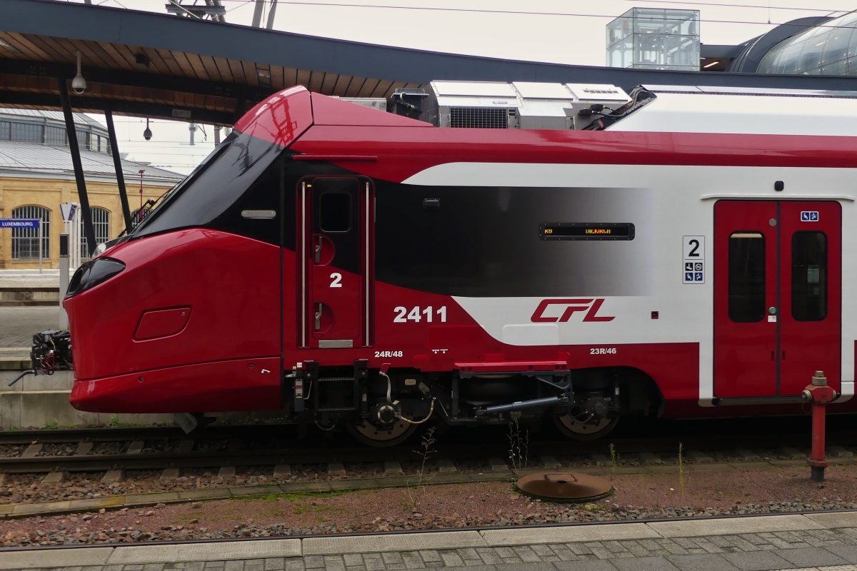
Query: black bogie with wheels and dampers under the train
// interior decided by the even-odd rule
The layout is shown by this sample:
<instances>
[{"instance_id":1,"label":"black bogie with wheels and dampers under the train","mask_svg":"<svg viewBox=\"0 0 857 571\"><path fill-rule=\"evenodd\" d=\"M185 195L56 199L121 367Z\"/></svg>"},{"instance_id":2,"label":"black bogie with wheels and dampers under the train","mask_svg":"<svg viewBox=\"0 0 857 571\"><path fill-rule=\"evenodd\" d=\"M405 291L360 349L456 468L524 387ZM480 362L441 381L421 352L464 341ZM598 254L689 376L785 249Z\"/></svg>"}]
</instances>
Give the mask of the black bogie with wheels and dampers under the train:
<instances>
[{"instance_id":1,"label":"black bogie with wheels and dampers under the train","mask_svg":"<svg viewBox=\"0 0 857 571\"><path fill-rule=\"evenodd\" d=\"M305 361L285 375L283 411L288 422L322 430L345 425L363 443L392 446L428 421L537 428L550 418L566 437L587 440L606 435L621 416L656 415L662 406L654 380L631 367L503 371L485 365L421 372L370 370L365 360L353 366Z\"/></svg>"}]
</instances>

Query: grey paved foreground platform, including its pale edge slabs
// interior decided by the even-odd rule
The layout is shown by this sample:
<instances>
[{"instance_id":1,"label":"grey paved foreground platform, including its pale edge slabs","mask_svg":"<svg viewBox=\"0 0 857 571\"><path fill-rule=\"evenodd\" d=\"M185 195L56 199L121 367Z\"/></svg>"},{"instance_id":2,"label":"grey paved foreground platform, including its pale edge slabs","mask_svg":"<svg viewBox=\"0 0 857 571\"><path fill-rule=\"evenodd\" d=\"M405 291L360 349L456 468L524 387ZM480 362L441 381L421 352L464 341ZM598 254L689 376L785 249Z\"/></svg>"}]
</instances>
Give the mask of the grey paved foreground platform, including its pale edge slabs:
<instances>
[{"instance_id":1,"label":"grey paved foreground platform, including its pale edge slabs","mask_svg":"<svg viewBox=\"0 0 857 571\"><path fill-rule=\"evenodd\" d=\"M477 532L0 550L0 569L66 571L857 571L857 512Z\"/></svg>"}]
</instances>

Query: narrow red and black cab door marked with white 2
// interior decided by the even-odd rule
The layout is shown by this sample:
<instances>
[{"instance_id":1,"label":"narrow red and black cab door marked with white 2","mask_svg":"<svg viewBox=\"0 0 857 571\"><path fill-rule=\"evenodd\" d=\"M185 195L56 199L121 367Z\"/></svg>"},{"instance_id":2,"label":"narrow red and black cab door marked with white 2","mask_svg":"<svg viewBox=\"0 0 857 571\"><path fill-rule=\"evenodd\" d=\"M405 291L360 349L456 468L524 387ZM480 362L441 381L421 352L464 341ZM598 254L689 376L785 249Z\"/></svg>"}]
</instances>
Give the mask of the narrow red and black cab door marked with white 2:
<instances>
[{"instance_id":1,"label":"narrow red and black cab door marked with white 2","mask_svg":"<svg viewBox=\"0 0 857 571\"><path fill-rule=\"evenodd\" d=\"M303 330L299 342L303 347L369 345L371 200L371 185L362 177L320 176L300 183Z\"/></svg>"}]
</instances>

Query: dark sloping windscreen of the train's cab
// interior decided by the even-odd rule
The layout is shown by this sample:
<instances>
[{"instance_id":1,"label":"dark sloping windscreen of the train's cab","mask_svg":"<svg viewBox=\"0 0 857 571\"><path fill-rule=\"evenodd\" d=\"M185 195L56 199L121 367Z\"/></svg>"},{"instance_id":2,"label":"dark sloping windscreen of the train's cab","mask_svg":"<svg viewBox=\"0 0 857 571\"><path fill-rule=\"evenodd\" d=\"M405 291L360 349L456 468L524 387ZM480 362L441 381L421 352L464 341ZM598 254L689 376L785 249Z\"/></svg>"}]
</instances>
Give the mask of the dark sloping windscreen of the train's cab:
<instances>
[{"instance_id":1,"label":"dark sloping windscreen of the train's cab","mask_svg":"<svg viewBox=\"0 0 857 571\"><path fill-rule=\"evenodd\" d=\"M283 152L233 131L131 234L132 239L211 224L243 196Z\"/></svg>"}]
</instances>

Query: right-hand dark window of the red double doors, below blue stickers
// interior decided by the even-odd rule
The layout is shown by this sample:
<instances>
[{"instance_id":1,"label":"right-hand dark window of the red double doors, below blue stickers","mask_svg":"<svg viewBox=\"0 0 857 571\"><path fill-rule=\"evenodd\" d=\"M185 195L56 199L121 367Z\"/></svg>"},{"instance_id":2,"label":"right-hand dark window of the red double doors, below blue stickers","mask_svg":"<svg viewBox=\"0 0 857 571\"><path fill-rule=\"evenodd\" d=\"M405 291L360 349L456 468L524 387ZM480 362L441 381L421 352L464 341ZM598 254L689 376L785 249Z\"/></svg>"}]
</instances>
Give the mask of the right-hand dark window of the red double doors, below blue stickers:
<instances>
[{"instance_id":1,"label":"right-hand dark window of the red double doors, below blue stickers","mask_svg":"<svg viewBox=\"0 0 857 571\"><path fill-rule=\"evenodd\" d=\"M827 317L827 236L824 232L792 235L792 317L821 321Z\"/></svg>"}]
</instances>

